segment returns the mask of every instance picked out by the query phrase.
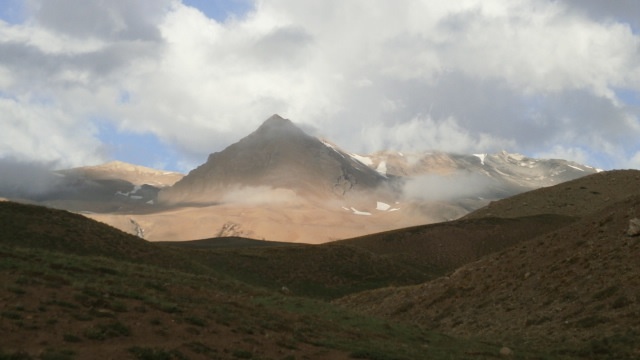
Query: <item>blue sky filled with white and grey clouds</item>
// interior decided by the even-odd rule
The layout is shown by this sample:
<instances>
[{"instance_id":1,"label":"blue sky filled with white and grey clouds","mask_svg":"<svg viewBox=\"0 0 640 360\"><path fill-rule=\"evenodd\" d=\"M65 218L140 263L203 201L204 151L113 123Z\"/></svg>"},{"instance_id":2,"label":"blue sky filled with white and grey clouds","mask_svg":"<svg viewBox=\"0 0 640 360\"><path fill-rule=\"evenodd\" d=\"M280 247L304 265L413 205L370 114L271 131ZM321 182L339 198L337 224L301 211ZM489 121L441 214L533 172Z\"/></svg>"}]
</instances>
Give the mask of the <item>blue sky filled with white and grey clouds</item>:
<instances>
[{"instance_id":1,"label":"blue sky filled with white and grey clouds","mask_svg":"<svg viewBox=\"0 0 640 360\"><path fill-rule=\"evenodd\" d=\"M186 173L273 114L640 168L640 1L0 0L0 163Z\"/></svg>"}]
</instances>

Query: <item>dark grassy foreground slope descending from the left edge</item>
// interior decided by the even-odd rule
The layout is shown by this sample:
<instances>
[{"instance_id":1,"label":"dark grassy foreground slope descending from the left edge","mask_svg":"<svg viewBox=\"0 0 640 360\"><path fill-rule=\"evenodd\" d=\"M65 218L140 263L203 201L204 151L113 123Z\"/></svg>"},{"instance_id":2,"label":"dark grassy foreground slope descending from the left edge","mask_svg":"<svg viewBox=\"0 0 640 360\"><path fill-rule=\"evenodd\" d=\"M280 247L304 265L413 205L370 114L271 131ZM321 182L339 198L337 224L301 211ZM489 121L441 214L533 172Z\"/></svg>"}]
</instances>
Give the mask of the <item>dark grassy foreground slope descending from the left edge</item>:
<instances>
[{"instance_id":1,"label":"dark grassy foreground slope descending from the left edge","mask_svg":"<svg viewBox=\"0 0 640 360\"><path fill-rule=\"evenodd\" d=\"M0 208L0 359L484 359L503 345L247 285L67 212Z\"/></svg>"}]
</instances>

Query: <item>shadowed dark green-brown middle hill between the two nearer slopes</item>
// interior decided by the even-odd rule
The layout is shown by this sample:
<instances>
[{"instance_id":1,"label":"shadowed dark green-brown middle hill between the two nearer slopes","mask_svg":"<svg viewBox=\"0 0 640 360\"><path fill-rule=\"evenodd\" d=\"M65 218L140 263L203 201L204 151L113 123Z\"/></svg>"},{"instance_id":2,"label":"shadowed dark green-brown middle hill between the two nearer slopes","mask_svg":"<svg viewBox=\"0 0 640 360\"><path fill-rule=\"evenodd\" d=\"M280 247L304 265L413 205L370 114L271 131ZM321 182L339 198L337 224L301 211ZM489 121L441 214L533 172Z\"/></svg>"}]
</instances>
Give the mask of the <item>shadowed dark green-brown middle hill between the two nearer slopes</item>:
<instances>
[{"instance_id":1,"label":"shadowed dark green-brown middle hill between the two nearer slopes","mask_svg":"<svg viewBox=\"0 0 640 360\"><path fill-rule=\"evenodd\" d=\"M562 215L471 219L323 245L273 246L245 239L161 244L206 250L193 253L191 259L200 259L247 283L272 289L285 286L297 295L333 299L367 289L432 280L574 220ZM251 246L254 243L262 246Z\"/></svg>"}]
</instances>

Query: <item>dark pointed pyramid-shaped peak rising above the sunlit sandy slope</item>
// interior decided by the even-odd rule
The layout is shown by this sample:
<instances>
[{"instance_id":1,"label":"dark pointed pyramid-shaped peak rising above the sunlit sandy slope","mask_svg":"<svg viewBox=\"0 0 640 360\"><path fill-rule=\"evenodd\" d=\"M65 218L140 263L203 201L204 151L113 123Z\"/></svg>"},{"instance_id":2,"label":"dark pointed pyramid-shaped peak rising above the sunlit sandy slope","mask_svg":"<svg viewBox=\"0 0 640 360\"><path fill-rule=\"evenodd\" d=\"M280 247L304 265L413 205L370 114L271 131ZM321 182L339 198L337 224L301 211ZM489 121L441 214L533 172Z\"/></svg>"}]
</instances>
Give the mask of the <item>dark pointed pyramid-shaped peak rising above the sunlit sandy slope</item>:
<instances>
[{"instance_id":1,"label":"dark pointed pyramid-shaped peak rising above the sunlit sandy slope","mask_svg":"<svg viewBox=\"0 0 640 360\"><path fill-rule=\"evenodd\" d=\"M174 186L160 192L162 204L224 202L230 190L291 190L293 196L351 197L389 190L386 178L273 115L256 131L211 154ZM357 195L356 195L357 196Z\"/></svg>"}]
</instances>

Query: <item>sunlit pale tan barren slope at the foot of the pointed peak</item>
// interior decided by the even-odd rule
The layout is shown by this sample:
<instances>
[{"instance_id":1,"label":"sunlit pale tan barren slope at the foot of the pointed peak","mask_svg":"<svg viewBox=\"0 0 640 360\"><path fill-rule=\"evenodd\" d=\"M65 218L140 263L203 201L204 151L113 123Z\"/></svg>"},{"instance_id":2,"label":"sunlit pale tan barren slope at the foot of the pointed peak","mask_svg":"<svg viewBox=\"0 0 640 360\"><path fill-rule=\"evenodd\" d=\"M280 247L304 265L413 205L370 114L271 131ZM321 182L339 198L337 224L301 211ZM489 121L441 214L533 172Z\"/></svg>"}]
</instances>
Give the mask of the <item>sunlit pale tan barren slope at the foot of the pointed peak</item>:
<instances>
[{"instance_id":1,"label":"sunlit pale tan barren slope at the foot of the pointed peak","mask_svg":"<svg viewBox=\"0 0 640 360\"><path fill-rule=\"evenodd\" d=\"M392 209L398 209L392 211ZM223 204L182 207L148 214L85 214L151 241L196 240L218 236L242 236L259 240L320 244L390 229L459 217L463 210L446 204L417 209L342 208L311 203Z\"/></svg>"}]
</instances>

